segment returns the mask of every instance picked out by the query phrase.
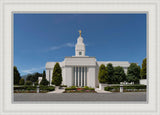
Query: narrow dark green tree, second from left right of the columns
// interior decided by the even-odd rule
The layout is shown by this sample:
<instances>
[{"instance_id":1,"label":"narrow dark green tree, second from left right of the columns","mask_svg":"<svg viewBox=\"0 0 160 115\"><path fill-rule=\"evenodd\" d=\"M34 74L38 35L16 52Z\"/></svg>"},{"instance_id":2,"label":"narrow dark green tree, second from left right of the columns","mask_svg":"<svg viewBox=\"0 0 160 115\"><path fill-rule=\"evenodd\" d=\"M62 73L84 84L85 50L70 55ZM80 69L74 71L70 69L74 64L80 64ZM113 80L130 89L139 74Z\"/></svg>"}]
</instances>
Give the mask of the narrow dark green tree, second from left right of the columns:
<instances>
[{"instance_id":1,"label":"narrow dark green tree, second from left right of the columns","mask_svg":"<svg viewBox=\"0 0 160 115\"><path fill-rule=\"evenodd\" d=\"M107 64L106 71L107 71L107 74L106 74L107 83L113 83L115 81L114 67L112 66L111 63Z\"/></svg>"}]
</instances>

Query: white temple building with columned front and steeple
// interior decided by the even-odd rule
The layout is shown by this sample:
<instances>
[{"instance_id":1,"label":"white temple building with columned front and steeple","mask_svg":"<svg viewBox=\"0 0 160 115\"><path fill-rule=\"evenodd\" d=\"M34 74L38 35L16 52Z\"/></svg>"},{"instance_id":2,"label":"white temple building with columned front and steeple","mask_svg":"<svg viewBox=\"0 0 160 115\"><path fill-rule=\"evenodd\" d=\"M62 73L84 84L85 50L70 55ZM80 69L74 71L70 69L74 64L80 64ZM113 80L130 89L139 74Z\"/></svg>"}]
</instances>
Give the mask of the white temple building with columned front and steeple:
<instances>
[{"instance_id":1,"label":"white temple building with columned front and steeple","mask_svg":"<svg viewBox=\"0 0 160 115\"><path fill-rule=\"evenodd\" d=\"M127 72L130 63L128 61L96 61L95 57L85 55L85 44L79 31L80 36L75 45L75 56L65 57L64 61L59 62L62 68L62 84L69 86L89 86L95 88L99 85L98 71L101 64L105 66L112 63L113 67L121 66ZM46 78L52 82L52 72L56 62L46 63Z\"/></svg>"}]
</instances>

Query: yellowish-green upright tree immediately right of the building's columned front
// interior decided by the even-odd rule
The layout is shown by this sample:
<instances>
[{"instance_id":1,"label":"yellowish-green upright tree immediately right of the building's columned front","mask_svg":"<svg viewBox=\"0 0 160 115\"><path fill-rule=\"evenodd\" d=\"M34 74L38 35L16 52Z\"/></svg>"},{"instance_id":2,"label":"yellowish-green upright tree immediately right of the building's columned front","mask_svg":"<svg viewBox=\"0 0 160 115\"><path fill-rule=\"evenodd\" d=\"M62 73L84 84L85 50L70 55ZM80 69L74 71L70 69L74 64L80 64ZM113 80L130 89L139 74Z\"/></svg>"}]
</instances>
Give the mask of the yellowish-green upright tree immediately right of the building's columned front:
<instances>
[{"instance_id":1,"label":"yellowish-green upright tree immediately right of the building's columned front","mask_svg":"<svg viewBox=\"0 0 160 115\"><path fill-rule=\"evenodd\" d=\"M106 80L106 67L104 64L102 64L100 67L99 67L99 73L98 73L98 80L100 83L106 83L107 80Z\"/></svg>"}]
</instances>

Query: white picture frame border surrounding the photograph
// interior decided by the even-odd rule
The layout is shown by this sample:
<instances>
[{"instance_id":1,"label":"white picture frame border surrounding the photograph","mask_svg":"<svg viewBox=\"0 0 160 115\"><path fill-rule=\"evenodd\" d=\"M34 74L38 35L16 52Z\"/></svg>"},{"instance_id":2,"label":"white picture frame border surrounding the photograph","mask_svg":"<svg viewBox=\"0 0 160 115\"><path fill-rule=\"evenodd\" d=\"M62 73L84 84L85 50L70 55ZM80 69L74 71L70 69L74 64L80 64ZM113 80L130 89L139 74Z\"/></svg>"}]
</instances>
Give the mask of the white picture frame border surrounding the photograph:
<instances>
[{"instance_id":1,"label":"white picture frame border surrounding the photograph","mask_svg":"<svg viewBox=\"0 0 160 115\"><path fill-rule=\"evenodd\" d=\"M158 0L2 0L0 1L0 114L153 114L158 115L160 104L159 78L160 72L160 40ZM74 104L14 104L11 100L12 76L12 12L148 12L148 104L105 104L105 103L74 103Z\"/></svg>"}]
</instances>

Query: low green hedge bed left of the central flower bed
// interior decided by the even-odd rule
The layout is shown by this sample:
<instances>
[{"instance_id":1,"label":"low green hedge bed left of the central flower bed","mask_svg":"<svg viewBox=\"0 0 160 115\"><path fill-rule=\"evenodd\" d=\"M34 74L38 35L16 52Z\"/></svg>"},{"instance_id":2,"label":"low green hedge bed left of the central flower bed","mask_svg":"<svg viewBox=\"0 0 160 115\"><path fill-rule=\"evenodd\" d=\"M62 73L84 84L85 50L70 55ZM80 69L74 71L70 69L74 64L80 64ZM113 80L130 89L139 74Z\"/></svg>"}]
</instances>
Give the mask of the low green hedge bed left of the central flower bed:
<instances>
[{"instance_id":1,"label":"low green hedge bed left of the central flower bed","mask_svg":"<svg viewBox=\"0 0 160 115\"><path fill-rule=\"evenodd\" d=\"M39 86L39 93L47 93L49 91L54 91L54 86ZM37 93L37 86L15 86L14 93Z\"/></svg>"}]
</instances>

